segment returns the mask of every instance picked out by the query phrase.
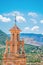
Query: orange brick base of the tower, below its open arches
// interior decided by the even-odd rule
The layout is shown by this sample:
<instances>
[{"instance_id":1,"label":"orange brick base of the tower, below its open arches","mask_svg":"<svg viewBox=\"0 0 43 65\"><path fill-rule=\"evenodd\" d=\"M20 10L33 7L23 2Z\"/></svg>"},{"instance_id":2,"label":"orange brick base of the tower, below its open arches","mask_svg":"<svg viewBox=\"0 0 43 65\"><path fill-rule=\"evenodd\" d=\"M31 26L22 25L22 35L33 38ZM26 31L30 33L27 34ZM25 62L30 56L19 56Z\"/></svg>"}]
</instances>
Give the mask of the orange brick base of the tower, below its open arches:
<instances>
[{"instance_id":1,"label":"orange brick base of the tower, below its open arches","mask_svg":"<svg viewBox=\"0 0 43 65\"><path fill-rule=\"evenodd\" d=\"M9 55L3 58L3 65L26 65L26 57L23 55Z\"/></svg>"}]
</instances>

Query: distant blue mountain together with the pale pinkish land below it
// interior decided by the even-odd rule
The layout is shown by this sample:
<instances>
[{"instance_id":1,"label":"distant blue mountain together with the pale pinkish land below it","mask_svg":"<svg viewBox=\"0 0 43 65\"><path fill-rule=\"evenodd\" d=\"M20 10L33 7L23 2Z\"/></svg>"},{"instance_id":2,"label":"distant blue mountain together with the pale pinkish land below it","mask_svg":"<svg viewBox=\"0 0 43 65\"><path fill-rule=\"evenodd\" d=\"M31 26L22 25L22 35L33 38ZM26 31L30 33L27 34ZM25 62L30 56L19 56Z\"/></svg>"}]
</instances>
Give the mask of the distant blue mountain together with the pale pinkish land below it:
<instances>
[{"instance_id":1,"label":"distant blue mountain together with the pale pinkish land below it","mask_svg":"<svg viewBox=\"0 0 43 65\"><path fill-rule=\"evenodd\" d=\"M25 42L28 44L33 44L36 46L43 45L42 34L21 33L20 38L24 38Z\"/></svg>"}]
</instances>

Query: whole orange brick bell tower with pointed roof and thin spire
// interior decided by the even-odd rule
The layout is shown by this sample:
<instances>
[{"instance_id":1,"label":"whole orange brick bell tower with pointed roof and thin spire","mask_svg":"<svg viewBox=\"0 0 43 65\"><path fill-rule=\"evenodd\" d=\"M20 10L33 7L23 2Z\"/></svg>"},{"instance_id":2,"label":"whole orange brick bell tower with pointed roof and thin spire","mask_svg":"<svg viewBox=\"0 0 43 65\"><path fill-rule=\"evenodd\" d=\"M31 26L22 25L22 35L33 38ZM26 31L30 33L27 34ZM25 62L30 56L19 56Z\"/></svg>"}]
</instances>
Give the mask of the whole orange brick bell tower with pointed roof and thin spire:
<instances>
[{"instance_id":1,"label":"whole orange brick bell tower with pointed roof and thin spire","mask_svg":"<svg viewBox=\"0 0 43 65\"><path fill-rule=\"evenodd\" d=\"M24 40L20 40L21 30L16 25L10 29L11 38L6 40L6 49L3 56L3 65L26 65L26 54L24 51Z\"/></svg>"}]
</instances>

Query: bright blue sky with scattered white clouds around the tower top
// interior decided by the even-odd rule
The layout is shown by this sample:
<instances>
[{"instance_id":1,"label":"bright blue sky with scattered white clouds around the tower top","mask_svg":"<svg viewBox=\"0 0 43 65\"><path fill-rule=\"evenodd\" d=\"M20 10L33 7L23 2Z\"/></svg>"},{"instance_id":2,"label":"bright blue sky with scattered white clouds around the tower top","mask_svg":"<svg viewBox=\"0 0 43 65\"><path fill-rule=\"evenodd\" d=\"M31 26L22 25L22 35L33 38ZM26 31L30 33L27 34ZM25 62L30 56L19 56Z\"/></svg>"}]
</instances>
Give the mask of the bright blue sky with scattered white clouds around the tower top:
<instances>
[{"instance_id":1,"label":"bright blue sky with scattered white clouds around the tower top","mask_svg":"<svg viewBox=\"0 0 43 65\"><path fill-rule=\"evenodd\" d=\"M23 33L43 34L43 0L0 0L0 29L9 34L14 26Z\"/></svg>"}]
</instances>

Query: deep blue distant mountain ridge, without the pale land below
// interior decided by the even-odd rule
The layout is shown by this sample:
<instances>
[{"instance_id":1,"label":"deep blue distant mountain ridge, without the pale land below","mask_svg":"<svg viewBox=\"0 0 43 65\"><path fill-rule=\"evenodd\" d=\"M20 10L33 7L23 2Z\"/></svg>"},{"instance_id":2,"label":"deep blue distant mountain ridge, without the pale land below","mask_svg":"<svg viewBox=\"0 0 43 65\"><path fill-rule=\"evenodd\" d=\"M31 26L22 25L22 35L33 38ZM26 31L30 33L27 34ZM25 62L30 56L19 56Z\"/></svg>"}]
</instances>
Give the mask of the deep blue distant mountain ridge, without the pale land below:
<instances>
[{"instance_id":1,"label":"deep blue distant mountain ridge, without the pale land below","mask_svg":"<svg viewBox=\"0 0 43 65\"><path fill-rule=\"evenodd\" d=\"M33 38L36 41L43 42L43 35L42 34L34 34L34 33L21 33L21 37L26 38Z\"/></svg>"}]
</instances>

